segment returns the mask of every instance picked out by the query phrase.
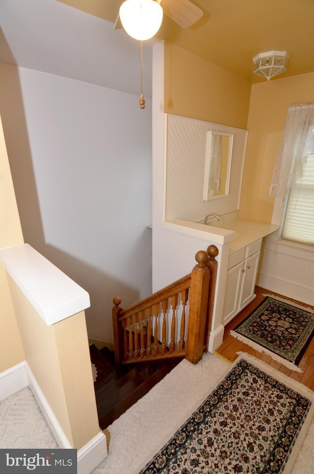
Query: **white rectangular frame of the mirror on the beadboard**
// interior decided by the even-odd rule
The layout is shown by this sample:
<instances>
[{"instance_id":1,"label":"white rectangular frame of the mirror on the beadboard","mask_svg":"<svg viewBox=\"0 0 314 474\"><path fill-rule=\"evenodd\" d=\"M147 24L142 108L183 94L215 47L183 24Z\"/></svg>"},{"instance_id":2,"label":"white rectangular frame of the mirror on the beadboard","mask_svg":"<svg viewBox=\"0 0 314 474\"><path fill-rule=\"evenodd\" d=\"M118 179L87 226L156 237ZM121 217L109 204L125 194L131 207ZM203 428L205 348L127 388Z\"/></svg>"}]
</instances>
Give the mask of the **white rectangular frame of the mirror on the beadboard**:
<instances>
[{"instance_id":1,"label":"white rectangular frame of the mirror on the beadboard","mask_svg":"<svg viewBox=\"0 0 314 474\"><path fill-rule=\"evenodd\" d=\"M209 196L209 173L210 173L210 152L211 152L211 142L213 135L222 135L229 137L229 150L228 150L228 163L227 163L227 175L226 175L226 186L224 194L219 194L217 196ZM230 184L230 170L231 170L231 160L232 160L232 150L233 150L234 134L222 132L219 130L209 130L207 132L206 140L206 157L205 157L205 173L204 173L204 191L203 191L203 200L209 201L211 199L224 198L229 194L229 184Z\"/></svg>"}]
</instances>

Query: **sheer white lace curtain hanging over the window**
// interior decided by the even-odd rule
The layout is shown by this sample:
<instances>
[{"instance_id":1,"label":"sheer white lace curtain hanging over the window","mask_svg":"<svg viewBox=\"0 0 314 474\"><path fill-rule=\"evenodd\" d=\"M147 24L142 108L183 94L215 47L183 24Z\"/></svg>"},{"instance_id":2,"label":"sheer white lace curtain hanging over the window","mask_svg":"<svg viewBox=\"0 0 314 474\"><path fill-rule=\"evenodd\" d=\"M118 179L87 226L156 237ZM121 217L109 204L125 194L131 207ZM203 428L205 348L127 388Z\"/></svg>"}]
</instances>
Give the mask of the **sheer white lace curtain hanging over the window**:
<instances>
[{"instance_id":1,"label":"sheer white lace curtain hanging over the window","mask_svg":"<svg viewBox=\"0 0 314 474\"><path fill-rule=\"evenodd\" d=\"M269 189L269 196L285 196L303 175L309 151L314 150L314 103L293 104L288 115Z\"/></svg>"}]
</instances>

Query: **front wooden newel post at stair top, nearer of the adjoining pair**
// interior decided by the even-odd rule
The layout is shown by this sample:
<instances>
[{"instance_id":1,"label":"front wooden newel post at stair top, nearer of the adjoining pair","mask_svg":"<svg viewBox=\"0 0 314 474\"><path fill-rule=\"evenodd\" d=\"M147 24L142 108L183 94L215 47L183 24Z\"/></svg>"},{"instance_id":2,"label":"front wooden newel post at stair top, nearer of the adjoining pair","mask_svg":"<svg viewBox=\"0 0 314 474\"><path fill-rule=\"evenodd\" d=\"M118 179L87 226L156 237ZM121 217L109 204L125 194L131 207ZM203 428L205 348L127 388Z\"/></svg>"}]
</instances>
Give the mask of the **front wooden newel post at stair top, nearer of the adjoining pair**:
<instances>
[{"instance_id":1,"label":"front wooden newel post at stair top, nearer of the adjoining pair","mask_svg":"<svg viewBox=\"0 0 314 474\"><path fill-rule=\"evenodd\" d=\"M191 272L190 303L185 358L197 364L202 358L209 296L209 255L200 250L195 255L197 265Z\"/></svg>"}]
</instances>

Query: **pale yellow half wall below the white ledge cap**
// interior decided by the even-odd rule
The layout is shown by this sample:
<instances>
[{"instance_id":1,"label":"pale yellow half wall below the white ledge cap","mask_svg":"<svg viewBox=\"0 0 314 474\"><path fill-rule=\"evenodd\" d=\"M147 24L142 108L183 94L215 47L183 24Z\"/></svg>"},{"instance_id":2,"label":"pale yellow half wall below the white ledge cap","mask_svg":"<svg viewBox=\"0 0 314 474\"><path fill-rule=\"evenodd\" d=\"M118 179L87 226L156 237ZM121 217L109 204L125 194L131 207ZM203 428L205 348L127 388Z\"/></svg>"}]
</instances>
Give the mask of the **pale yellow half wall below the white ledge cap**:
<instances>
[{"instance_id":1,"label":"pale yellow half wall below the white ledge cap","mask_svg":"<svg viewBox=\"0 0 314 474\"><path fill-rule=\"evenodd\" d=\"M26 361L73 448L99 433L84 311L48 326L8 275Z\"/></svg>"}]
</instances>

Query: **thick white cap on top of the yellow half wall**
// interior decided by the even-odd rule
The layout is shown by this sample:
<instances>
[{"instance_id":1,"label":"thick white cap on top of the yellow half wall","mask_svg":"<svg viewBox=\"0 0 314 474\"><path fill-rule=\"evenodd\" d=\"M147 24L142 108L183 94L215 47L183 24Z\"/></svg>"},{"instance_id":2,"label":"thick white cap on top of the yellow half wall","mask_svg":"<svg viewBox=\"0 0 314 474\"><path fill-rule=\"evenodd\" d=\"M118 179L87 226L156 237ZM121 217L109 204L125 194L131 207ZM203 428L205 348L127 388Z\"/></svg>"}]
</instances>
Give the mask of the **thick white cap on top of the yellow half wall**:
<instances>
[{"instance_id":1,"label":"thick white cap on top of the yellow half wall","mask_svg":"<svg viewBox=\"0 0 314 474\"><path fill-rule=\"evenodd\" d=\"M88 293L28 244L0 249L0 262L48 325L90 306Z\"/></svg>"}]
</instances>

